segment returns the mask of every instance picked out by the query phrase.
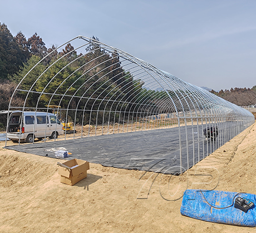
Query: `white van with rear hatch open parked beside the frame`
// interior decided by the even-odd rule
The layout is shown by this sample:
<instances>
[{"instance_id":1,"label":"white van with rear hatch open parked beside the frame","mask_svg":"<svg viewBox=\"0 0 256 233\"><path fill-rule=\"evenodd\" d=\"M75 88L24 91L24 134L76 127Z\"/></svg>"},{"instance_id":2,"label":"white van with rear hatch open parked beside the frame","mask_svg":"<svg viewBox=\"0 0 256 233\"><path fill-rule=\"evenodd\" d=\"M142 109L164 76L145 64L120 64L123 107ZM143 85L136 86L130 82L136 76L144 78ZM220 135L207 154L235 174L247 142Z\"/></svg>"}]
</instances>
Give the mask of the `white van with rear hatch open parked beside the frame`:
<instances>
[{"instance_id":1,"label":"white van with rear hatch open parked beside the frame","mask_svg":"<svg viewBox=\"0 0 256 233\"><path fill-rule=\"evenodd\" d=\"M34 138L54 139L62 134L63 125L52 113L14 111L9 116L7 138L11 140L32 143Z\"/></svg>"}]
</instances>

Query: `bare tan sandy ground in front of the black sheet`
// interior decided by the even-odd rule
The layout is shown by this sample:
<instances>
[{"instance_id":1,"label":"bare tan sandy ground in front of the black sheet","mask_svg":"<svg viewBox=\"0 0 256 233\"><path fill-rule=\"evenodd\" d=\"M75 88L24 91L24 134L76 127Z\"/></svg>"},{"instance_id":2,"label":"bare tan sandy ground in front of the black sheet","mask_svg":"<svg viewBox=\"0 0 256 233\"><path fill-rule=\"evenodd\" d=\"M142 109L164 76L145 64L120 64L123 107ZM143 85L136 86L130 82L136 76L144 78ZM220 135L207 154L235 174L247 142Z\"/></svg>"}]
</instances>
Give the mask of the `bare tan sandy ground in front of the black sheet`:
<instances>
[{"instance_id":1,"label":"bare tan sandy ground in front of the black sheet","mask_svg":"<svg viewBox=\"0 0 256 233\"><path fill-rule=\"evenodd\" d=\"M186 188L256 194L255 133L256 124L180 176L90 164L74 186L60 183L60 160L0 142L0 232L256 232L180 214Z\"/></svg>"}]
</instances>

